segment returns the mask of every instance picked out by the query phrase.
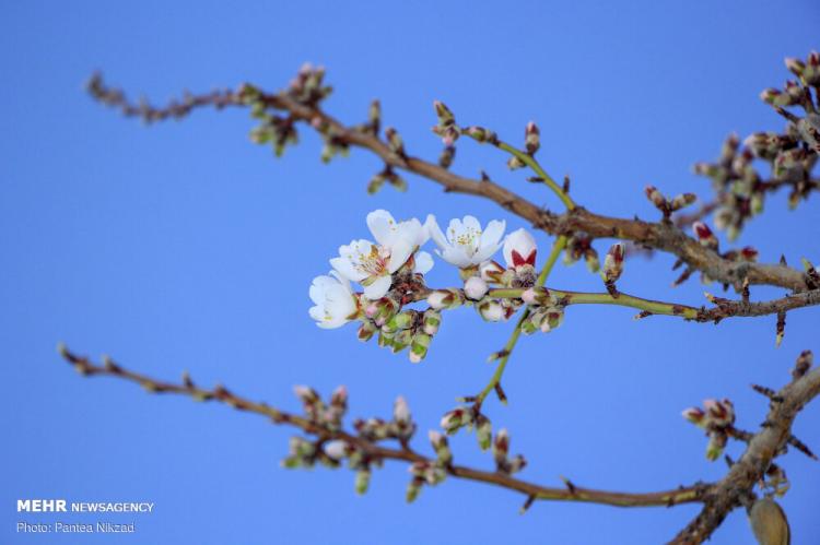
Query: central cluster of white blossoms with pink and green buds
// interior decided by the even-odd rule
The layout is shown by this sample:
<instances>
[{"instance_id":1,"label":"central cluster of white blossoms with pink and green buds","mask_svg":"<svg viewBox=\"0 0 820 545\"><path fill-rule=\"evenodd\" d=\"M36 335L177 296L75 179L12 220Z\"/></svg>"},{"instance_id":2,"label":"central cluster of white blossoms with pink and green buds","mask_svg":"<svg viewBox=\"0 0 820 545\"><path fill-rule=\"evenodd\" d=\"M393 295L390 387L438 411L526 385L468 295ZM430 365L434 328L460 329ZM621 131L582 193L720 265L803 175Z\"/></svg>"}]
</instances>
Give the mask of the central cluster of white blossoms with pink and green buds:
<instances>
[{"instance_id":1,"label":"central cluster of white blossoms with pink and green buds","mask_svg":"<svg viewBox=\"0 0 820 545\"><path fill-rule=\"evenodd\" d=\"M397 221L376 210L367 214L366 223L374 240L354 239L339 248L339 256L330 260L332 270L313 281L309 315L324 329L359 321L360 340L377 336L379 346L394 352L408 348L413 363L426 356L443 310L467 305L487 321L506 320L523 301L493 297L492 288L528 288L536 283L532 235L518 229L504 236L504 222L491 221L482 228L468 215L442 229L433 215L422 224L418 218ZM459 270L462 287L426 287L424 275L433 268L433 257L421 248L431 238L435 253ZM505 265L493 260L499 250ZM355 291L353 283L362 291ZM420 303L429 307L410 308Z\"/></svg>"}]
</instances>

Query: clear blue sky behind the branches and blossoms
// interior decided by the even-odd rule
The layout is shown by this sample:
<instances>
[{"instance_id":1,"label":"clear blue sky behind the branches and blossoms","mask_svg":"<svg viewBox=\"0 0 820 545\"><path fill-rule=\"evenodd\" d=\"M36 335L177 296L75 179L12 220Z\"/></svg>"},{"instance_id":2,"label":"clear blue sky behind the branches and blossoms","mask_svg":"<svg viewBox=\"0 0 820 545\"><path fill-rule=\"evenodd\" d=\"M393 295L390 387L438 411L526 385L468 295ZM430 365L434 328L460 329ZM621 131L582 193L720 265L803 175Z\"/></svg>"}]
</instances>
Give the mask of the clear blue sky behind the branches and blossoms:
<instances>
[{"instance_id":1,"label":"clear blue sky behind the branches and blossoms","mask_svg":"<svg viewBox=\"0 0 820 545\"><path fill-rule=\"evenodd\" d=\"M577 202L652 217L646 183L706 197L692 163L713 158L730 131L782 129L758 93L785 81L783 57L820 47L817 4L7 1L0 14L0 541L77 542L15 534L15 500L28 497L156 503L136 520L136 536L94 543L637 544L668 540L694 516L695 506L543 502L520 517L517 495L455 481L408 507L406 469L396 464L356 497L347 470L280 469L288 429L78 377L58 359L58 341L168 379L188 369L202 383L224 382L290 410L297 383L325 393L347 384L352 416L386 416L403 394L424 431L456 395L485 383L485 357L512 324L453 312L427 359L413 366L356 342L353 327L318 330L307 317L307 286L339 245L367 235L364 217L377 208L526 226L490 202L413 177L407 194L387 188L368 197L378 162L354 152L323 165L319 142L306 133L274 161L248 142L245 111L144 128L93 104L82 85L99 69L133 96L164 100L243 81L279 88L304 61L323 63L337 90L328 109L359 122L380 98L385 122L412 154L437 154L430 133L436 98L459 121L512 141L534 119L542 163L557 177L572 175ZM504 161L465 143L454 168L471 176L484 168L558 206L524 175L507 174ZM785 201L770 199L739 244L754 245L769 262L781 253L795 264L803 256L820 261L818 201L796 213ZM669 289L671 262L630 262L619 286L701 304L696 281ZM430 277L456 282L441 262ZM551 284L600 288L581 264L559 268ZM509 405L487 408L511 430L513 451L528 457L523 477L557 485L566 475L635 491L719 478L725 465L704 459L705 439L680 411L728 396L738 424L753 429L766 404L748 384L780 387L801 349L820 349L811 309L788 315L780 349L770 318L713 327L632 315L571 308L557 332L520 343L504 380ZM820 410L809 406L795 431L820 448L819 430ZM420 449L427 449L424 436ZM459 463L491 466L471 436L453 443ZM739 455L739 446L729 453ZM794 479L783 500L793 543L815 543L820 466L797 453L783 465ZM737 511L713 543L749 540Z\"/></svg>"}]
</instances>

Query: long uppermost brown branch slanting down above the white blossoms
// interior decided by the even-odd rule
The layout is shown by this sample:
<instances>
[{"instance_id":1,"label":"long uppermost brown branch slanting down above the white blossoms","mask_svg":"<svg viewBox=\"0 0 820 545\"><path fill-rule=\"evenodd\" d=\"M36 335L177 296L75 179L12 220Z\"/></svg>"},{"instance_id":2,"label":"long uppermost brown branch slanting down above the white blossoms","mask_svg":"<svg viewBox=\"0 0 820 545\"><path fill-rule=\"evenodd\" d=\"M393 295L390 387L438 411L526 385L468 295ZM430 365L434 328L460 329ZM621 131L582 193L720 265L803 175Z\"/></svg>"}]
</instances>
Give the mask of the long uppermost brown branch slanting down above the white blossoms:
<instances>
[{"instance_id":1,"label":"long uppermost brown branch slanting down above the white blossoms","mask_svg":"<svg viewBox=\"0 0 820 545\"><path fill-rule=\"evenodd\" d=\"M197 107L247 106L242 91L221 91L201 96L188 95L184 103L172 103L165 108L155 108L147 104L139 106L130 104L120 91L107 87L98 75L92 79L89 88L99 102L118 108L128 117L141 117L149 122L184 117ZM491 180L465 178L423 159L397 154L372 131L347 127L324 112L317 103L298 102L286 92L260 93L258 100L268 107L286 111L291 120L305 121L321 133L332 134L338 142L370 150L386 165L427 178L443 186L445 191L489 199L548 234L571 235L579 230L593 238L632 240L642 246L673 253L691 268L704 272L717 282L730 284L737 291L740 291L745 280L752 285L781 286L794 292L803 292L811 287L801 271L784 264L737 263L724 259L716 251L687 236L671 223L608 217L586 211L582 206L575 206L564 214L552 213ZM811 180L811 182L818 181Z\"/></svg>"}]
</instances>

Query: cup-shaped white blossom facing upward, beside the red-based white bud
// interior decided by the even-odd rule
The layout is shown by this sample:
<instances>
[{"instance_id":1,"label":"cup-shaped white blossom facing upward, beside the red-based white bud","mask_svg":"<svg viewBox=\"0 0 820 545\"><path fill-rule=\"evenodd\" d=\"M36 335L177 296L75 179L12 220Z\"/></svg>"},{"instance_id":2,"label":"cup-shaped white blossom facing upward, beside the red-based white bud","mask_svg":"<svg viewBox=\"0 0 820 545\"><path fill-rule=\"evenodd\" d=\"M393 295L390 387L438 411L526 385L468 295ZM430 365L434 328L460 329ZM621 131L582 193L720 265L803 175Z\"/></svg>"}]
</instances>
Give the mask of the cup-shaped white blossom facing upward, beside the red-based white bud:
<instances>
[{"instance_id":1,"label":"cup-shaped white blossom facing upward, beside the red-based white bud","mask_svg":"<svg viewBox=\"0 0 820 545\"><path fill-rule=\"evenodd\" d=\"M459 269L476 266L487 261L501 247L501 237L506 224L491 221L481 230L481 224L473 216L450 220L445 237L433 214L424 223L433 241L438 246L436 253L443 260Z\"/></svg>"}]
</instances>

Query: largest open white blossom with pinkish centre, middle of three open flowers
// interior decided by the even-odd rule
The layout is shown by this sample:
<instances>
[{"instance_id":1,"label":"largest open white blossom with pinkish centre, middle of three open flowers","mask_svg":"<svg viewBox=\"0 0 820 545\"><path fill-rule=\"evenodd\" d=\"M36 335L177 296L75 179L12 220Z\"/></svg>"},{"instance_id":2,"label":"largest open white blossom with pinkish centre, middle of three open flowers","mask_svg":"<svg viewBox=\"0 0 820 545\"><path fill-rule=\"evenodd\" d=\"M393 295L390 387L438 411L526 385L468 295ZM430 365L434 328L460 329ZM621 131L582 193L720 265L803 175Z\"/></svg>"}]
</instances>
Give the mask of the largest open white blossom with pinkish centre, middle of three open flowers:
<instances>
[{"instance_id":1,"label":"largest open white blossom with pinkish centre, middle of three open flowers","mask_svg":"<svg viewBox=\"0 0 820 545\"><path fill-rule=\"evenodd\" d=\"M389 212L376 210L367 214L367 226L377 244L353 240L339 248L339 257L330 260L333 269L364 286L368 299L379 299L390 289L393 273L401 269L430 235L417 218L396 222ZM417 270L430 270L432 258L419 256ZM424 272L426 272L424 271Z\"/></svg>"}]
</instances>

